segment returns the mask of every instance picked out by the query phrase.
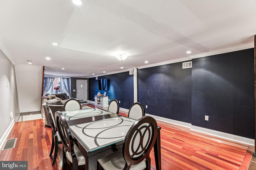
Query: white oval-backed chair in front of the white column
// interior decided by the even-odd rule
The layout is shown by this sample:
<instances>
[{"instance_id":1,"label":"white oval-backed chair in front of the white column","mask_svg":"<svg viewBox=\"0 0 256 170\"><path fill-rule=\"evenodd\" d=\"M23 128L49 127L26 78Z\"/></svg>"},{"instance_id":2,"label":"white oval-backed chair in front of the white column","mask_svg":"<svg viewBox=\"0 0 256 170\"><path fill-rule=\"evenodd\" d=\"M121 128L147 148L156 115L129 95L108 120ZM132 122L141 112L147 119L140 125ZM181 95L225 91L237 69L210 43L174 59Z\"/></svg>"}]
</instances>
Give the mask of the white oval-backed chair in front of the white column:
<instances>
[{"instance_id":1,"label":"white oval-backed chair in front of the white column","mask_svg":"<svg viewBox=\"0 0 256 170\"><path fill-rule=\"evenodd\" d=\"M140 119L140 117L144 115L145 115L145 110L142 104L140 104L139 102L132 104L128 112L129 118Z\"/></svg>"}]
</instances>

